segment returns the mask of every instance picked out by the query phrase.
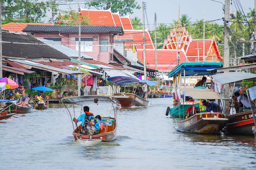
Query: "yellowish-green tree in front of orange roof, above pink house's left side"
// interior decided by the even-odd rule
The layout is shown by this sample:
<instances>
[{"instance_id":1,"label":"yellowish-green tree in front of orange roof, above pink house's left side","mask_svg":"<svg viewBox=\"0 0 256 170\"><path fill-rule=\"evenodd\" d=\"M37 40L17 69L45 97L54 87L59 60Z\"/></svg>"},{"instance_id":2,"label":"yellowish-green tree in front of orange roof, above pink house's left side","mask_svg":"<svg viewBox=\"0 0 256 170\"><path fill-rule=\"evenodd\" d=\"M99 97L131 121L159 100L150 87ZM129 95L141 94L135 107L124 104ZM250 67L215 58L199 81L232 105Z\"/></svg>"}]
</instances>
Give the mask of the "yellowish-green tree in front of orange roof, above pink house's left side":
<instances>
[{"instance_id":1,"label":"yellowish-green tree in front of orange roof, above pink house's left side","mask_svg":"<svg viewBox=\"0 0 256 170\"><path fill-rule=\"evenodd\" d=\"M77 25L77 21L80 19L82 19L82 21L80 21L81 25L91 25L91 19L88 16L83 16L83 18L81 18L79 14L80 13L76 12L75 10L62 11L62 13L58 15L59 20L57 25Z\"/></svg>"}]
</instances>

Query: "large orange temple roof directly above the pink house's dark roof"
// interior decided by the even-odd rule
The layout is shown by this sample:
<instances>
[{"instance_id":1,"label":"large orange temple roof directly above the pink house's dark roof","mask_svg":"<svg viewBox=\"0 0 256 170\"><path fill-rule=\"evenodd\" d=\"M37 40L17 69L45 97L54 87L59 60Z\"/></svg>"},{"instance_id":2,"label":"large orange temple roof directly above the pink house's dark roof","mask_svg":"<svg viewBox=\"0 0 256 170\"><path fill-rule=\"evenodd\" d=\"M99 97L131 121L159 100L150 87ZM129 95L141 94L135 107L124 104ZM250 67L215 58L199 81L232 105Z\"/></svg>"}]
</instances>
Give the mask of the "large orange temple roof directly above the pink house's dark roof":
<instances>
[{"instance_id":1,"label":"large orange temple roof directly above the pink house's dark roof","mask_svg":"<svg viewBox=\"0 0 256 170\"><path fill-rule=\"evenodd\" d=\"M87 10L80 7L82 16L90 18L93 26L116 26L111 9L109 10Z\"/></svg>"}]
</instances>

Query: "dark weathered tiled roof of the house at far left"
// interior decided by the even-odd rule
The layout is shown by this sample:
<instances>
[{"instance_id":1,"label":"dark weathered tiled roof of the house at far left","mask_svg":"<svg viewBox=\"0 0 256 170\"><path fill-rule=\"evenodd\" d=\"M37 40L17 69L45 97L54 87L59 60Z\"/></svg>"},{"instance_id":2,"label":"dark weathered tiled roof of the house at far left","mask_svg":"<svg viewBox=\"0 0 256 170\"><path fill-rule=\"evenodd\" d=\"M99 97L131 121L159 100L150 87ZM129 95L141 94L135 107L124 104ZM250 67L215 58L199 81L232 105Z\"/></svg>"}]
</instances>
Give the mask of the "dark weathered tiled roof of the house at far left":
<instances>
[{"instance_id":1,"label":"dark weathered tiled roof of the house at far left","mask_svg":"<svg viewBox=\"0 0 256 170\"><path fill-rule=\"evenodd\" d=\"M3 42L16 42L16 43L2 43L3 56L12 58L54 58L54 59L69 59L58 50L55 50L48 45L43 44L41 41L35 39L31 35L18 35L7 32L2 32ZM18 42L18 43L17 43ZM28 43L28 44L23 44Z\"/></svg>"}]
</instances>

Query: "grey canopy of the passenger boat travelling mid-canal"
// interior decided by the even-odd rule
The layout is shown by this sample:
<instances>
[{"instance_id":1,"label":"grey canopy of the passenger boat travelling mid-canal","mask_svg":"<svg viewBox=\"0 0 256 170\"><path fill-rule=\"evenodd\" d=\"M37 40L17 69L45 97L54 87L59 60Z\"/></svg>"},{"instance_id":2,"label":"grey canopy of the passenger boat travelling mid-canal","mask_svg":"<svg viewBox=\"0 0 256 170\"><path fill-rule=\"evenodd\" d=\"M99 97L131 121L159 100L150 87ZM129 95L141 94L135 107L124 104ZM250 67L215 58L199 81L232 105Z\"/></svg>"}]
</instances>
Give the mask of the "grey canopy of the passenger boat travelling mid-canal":
<instances>
[{"instance_id":1,"label":"grey canopy of the passenger boat travelling mid-canal","mask_svg":"<svg viewBox=\"0 0 256 170\"><path fill-rule=\"evenodd\" d=\"M78 105L85 105L85 104L91 104L91 103L97 103L97 104L110 103L111 101L114 101L114 100L109 96L92 95L92 96L75 96L70 98L63 98L62 101L75 103Z\"/></svg>"}]
</instances>

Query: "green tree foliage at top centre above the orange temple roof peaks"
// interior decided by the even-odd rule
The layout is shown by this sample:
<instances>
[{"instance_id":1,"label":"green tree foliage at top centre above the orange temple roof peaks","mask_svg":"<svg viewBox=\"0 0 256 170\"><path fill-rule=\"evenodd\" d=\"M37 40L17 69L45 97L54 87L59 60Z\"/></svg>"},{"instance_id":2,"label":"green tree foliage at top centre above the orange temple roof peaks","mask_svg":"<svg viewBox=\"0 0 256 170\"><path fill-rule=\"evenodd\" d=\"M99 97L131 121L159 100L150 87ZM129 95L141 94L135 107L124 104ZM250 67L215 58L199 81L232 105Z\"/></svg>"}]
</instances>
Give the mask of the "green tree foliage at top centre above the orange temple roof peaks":
<instances>
[{"instance_id":1,"label":"green tree foliage at top centre above the orange temple roof peaks","mask_svg":"<svg viewBox=\"0 0 256 170\"><path fill-rule=\"evenodd\" d=\"M90 1L86 7L94 6L98 10L108 10L111 7L113 13L119 11L121 16L132 14L134 9L140 9L140 5L135 0L101 0Z\"/></svg>"}]
</instances>

